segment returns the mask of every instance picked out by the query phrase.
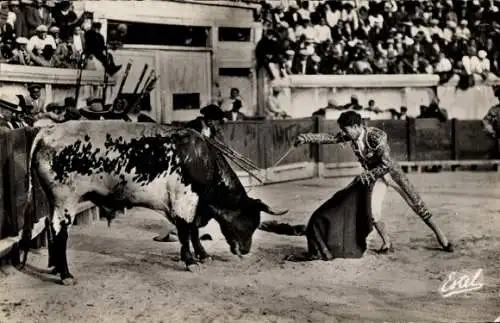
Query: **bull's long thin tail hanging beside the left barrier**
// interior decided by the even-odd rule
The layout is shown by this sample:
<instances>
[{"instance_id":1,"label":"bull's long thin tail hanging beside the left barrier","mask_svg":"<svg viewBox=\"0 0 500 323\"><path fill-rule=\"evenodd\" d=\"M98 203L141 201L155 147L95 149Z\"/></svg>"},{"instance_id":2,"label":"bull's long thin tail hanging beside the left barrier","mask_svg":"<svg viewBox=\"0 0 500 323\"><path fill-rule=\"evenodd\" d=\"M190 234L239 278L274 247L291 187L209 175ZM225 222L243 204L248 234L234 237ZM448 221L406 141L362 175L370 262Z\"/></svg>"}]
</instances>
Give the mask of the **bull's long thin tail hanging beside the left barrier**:
<instances>
[{"instance_id":1,"label":"bull's long thin tail hanging beside the left barrier","mask_svg":"<svg viewBox=\"0 0 500 323\"><path fill-rule=\"evenodd\" d=\"M26 176L28 177L28 191L26 194L26 203L24 204L24 209L23 209L23 217L24 217L24 225L23 225L23 233L21 235L21 239L19 241L18 248L20 251L23 252L22 260L20 261L19 266L22 268L26 264L26 261L28 259L28 252L30 249L31 245L31 240L32 240L32 227L33 227L33 214L35 212L35 205L34 205L34 170L33 170L33 157L35 156L35 153L38 149L39 143L42 140L43 136L41 134L41 131L39 128L35 128L36 130L36 135L35 138L33 139L33 143L31 144L31 149L30 153L28 155L28 168L27 168L27 174Z\"/></svg>"}]
</instances>

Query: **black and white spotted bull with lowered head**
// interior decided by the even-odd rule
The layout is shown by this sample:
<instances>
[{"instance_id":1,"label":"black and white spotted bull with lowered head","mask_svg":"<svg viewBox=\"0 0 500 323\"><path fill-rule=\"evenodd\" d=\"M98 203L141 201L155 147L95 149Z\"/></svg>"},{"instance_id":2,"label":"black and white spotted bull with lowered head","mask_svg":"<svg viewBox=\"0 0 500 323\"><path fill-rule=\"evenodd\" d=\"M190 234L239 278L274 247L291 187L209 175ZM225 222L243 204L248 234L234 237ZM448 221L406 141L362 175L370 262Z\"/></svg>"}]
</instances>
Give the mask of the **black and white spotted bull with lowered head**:
<instances>
[{"instance_id":1,"label":"black and white spotted bull with lowered head","mask_svg":"<svg viewBox=\"0 0 500 323\"><path fill-rule=\"evenodd\" d=\"M260 212L281 215L245 188L222 153L193 130L152 123L71 121L40 129L30 153L49 199L49 266L72 284L66 244L77 205L160 210L176 225L187 269L209 256L198 228L215 219L233 254L250 251ZM195 259L190 250L193 244Z\"/></svg>"}]
</instances>

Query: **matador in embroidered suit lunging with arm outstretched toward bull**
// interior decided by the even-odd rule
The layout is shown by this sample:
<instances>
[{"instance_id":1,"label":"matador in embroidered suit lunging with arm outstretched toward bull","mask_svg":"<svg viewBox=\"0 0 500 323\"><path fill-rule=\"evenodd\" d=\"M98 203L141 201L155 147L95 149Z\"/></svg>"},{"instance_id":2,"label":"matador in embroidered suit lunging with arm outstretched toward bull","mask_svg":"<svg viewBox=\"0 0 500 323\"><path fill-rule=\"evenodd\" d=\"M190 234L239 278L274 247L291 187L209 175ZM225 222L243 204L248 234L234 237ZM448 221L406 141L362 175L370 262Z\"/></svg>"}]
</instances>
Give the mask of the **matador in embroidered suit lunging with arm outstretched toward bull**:
<instances>
[{"instance_id":1,"label":"matador in embroidered suit lunging with arm outstretched toward bull","mask_svg":"<svg viewBox=\"0 0 500 323\"><path fill-rule=\"evenodd\" d=\"M365 185L374 183L371 200L373 226L380 235L383 245L380 253L392 251L392 243L381 221L382 202L387 186L395 189L406 201L410 208L435 233L444 251L453 252L453 245L439 229L432 219L432 213L415 190L398 163L391 157L387 141L387 134L375 127L366 127L362 124L361 116L355 111L342 113L337 121L341 132L330 133L303 133L295 140L295 145L301 144L338 144L350 142L354 154L361 163L364 171L355 180Z\"/></svg>"}]
</instances>

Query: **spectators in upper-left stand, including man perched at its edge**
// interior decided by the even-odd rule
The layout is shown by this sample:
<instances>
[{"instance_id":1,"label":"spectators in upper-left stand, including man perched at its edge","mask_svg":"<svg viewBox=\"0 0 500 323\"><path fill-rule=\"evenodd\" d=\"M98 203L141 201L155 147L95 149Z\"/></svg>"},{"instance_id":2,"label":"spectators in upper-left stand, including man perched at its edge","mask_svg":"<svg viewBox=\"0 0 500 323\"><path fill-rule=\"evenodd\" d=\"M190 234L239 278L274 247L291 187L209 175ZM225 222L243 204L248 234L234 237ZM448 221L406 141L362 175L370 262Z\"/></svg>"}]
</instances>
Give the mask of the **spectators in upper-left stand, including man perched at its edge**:
<instances>
[{"instance_id":1,"label":"spectators in upper-left stand, including man perched at its edge","mask_svg":"<svg viewBox=\"0 0 500 323\"><path fill-rule=\"evenodd\" d=\"M113 75L121 66L114 64L100 29L92 14L78 17L70 1L6 2L0 8L0 62L95 69L95 58Z\"/></svg>"}]
</instances>

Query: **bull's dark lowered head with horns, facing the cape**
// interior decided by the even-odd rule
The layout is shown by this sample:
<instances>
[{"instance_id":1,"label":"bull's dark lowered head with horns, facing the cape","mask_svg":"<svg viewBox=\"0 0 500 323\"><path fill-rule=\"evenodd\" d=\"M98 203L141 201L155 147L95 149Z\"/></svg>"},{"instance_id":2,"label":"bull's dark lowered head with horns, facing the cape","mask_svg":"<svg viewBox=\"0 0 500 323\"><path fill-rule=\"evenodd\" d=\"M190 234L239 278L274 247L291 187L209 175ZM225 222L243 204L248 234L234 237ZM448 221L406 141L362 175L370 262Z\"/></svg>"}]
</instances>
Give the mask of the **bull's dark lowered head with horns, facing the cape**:
<instances>
[{"instance_id":1,"label":"bull's dark lowered head with horns, facing the cape","mask_svg":"<svg viewBox=\"0 0 500 323\"><path fill-rule=\"evenodd\" d=\"M216 219L219 222L222 234L237 256L250 252L252 236L260 225L260 212L272 215L283 215L288 210L274 210L261 200L247 197L237 210L216 210Z\"/></svg>"}]
</instances>

